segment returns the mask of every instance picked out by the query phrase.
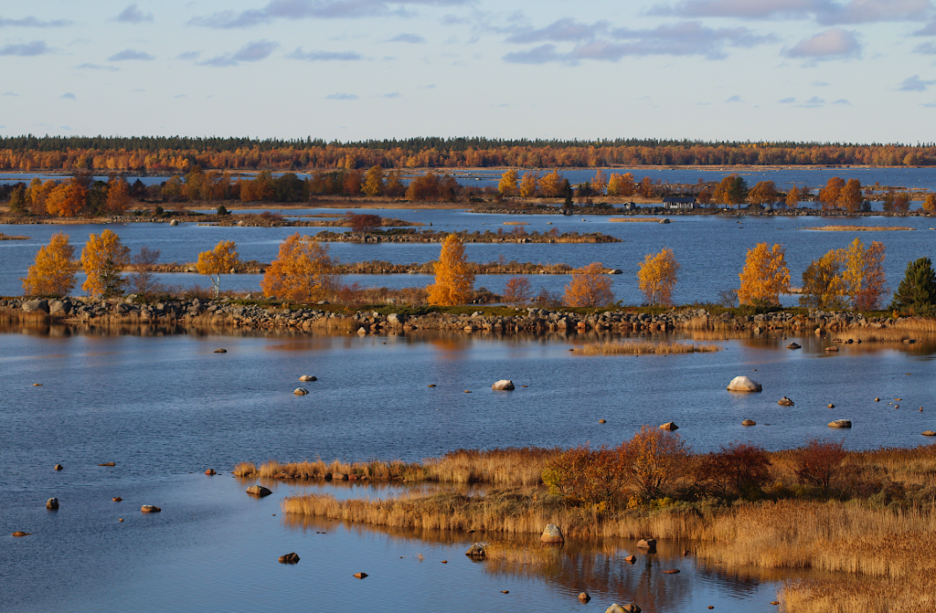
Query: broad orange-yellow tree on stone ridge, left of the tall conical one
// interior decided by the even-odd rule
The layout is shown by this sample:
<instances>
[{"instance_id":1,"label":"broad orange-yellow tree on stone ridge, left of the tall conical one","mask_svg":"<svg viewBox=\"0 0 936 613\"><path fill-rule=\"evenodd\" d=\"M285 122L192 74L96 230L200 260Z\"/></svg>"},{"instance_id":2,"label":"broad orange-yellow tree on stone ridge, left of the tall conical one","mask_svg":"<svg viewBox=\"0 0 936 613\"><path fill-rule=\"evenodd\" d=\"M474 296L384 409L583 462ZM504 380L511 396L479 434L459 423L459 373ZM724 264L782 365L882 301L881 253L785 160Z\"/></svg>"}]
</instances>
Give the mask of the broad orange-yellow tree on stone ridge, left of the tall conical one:
<instances>
[{"instance_id":1,"label":"broad orange-yellow tree on stone ridge, left of the tall conical one","mask_svg":"<svg viewBox=\"0 0 936 613\"><path fill-rule=\"evenodd\" d=\"M295 302L326 299L338 289L335 265L328 245L297 232L280 243L280 253L264 273L260 288L264 296Z\"/></svg>"}]
</instances>

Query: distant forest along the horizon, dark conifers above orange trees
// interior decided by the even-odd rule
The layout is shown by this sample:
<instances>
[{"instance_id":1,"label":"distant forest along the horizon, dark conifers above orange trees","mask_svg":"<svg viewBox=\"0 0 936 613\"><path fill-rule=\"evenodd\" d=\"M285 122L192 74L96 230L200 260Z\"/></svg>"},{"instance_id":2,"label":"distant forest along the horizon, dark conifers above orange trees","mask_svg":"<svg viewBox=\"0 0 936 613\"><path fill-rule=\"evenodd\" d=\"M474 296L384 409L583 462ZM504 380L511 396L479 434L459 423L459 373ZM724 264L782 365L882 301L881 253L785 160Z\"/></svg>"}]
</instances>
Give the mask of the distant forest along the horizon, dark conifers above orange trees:
<instances>
[{"instance_id":1,"label":"distant forest along the horizon, dark conifers above orange trees","mask_svg":"<svg viewBox=\"0 0 936 613\"><path fill-rule=\"evenodd\" d=\"M324 168L936 166L936 144L701 140L0 138L0 170L186 172Z\"/></svg>"}]
</instances>

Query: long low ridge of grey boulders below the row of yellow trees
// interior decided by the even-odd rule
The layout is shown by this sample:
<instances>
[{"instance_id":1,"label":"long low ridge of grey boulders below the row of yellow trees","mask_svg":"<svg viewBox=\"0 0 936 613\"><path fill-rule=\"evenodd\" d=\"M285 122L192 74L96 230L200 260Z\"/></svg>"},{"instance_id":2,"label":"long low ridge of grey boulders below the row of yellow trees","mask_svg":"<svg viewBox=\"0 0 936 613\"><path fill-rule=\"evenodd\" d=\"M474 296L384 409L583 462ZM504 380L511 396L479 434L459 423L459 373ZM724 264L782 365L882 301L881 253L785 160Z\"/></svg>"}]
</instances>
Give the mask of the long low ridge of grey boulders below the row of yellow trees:
<instances>
[{"instance_id":1,"label":"long low ridge of grey boulders below the row of yellow trees","mask_svg":"<svg viewBox=\"0 0 936 613\"><path fill-rule=\"evenodd\" d=\"M494 334L581 332L666 332L674 330L790 333L889 332L877 340L914 343L914 332L934 332L934 322L914 317L872 317L848 312L810 311L808 314L712 314L706 309L672 309L665 313L635 313L636 309L608 310L580 314L564 309L528 308L516 314L486 314L483 308L473 314L412 312L400 307L381 311L347 313L337 305L263 305L228 298L215 300L177 299L165 302L138 302L125 299L0 299L0 322L44 322L49 324L174 325L182 327L332 330L358 334L399 334L411 330L444 330L462 333ZM425 310L423 310L425 311ZM885 338L886 336L886 338ZM835 339L836 341L839 339ZM851 339L842 338L848 343Z\"/></svg>"}]
</instances>

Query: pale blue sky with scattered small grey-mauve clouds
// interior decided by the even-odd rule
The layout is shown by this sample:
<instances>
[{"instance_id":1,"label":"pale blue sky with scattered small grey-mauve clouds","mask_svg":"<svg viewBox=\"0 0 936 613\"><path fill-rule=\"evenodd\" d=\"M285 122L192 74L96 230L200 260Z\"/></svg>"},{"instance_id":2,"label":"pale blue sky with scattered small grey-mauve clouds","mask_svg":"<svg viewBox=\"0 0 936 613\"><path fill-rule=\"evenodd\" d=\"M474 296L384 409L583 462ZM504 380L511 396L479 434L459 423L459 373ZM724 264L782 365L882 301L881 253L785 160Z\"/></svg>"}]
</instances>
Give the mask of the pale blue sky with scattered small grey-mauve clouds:
<instances>
[{"instance_id":1,"label":"pale blue sky with scattered small grey-mauve clouds","mask_svg":"<svg viewBox=\"0 0 936 613\"><path fill-rule=\"evenodd\" d=\"M0 134L931 142L930 0L33 0Z\"/></svg>"}]
</instances>

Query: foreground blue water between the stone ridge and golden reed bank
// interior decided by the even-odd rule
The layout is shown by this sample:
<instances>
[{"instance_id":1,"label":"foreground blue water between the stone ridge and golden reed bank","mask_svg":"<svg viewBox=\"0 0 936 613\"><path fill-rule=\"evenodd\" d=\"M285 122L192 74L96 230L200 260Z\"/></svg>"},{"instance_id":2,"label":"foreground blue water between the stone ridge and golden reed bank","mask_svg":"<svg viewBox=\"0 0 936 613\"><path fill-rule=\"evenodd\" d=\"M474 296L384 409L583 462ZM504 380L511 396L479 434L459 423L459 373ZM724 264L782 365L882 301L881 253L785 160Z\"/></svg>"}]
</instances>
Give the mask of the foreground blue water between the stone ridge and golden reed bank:
<instances>
[{"instance_id":1,"label":"foreground blue water between the stone ridge and golden reed bank","mask_svg":"<svg viewBox=\"0 0 936 613\"><path fill-rule=\"evenodd\" d=\"M698 451L732 441L777 449L808 436L852 448L918 445L920 431L936 428L932 343L844 345L829 356L812 335L795 339L798 351L782 348L790 340L723 341L716 354L592 358L570 354L572 341L543 339L7 330L0 533L33 535L0 536L0 609L456 611L470 602L473 610L565 611L580 608L575 595L587 590L595 611L613 601L661 612L773 610L783 576L725 575L681 558L679 544L640 555L635 566L621 560L633 546L625 542L570 542L543 567L473 563L463 556L464 535L290 520L278 501L297 486L271 483L274 495L254 500L243 493L252 481L200 473L227 473L241 460L419 460L459 447L616 445L641 424L669 420ZM212 353L220 346L228 353ZM303 384L306 397L292 394L300 374L318 377ZM764 393L725 391L738 374L759 380ZM492 392L490 383L504 377L518 389ZM783 395L796 406L776 404ZM886 404L895 398L899 409ZM826 427L839 417L854 428ZM758 425L744 428L744 418ZM105 461L116 466L97 466ZM66 470L53 471L56 462ZM311 489L340 497L399 491ZM51 496L61 501L58 512L43 506ZM164 510L144 516L140 504ZM288 551L299 552L297 566L276 562ZM660 574L672 567L682 573ZM360 571L371 577L351 577Z\"/></svg>"}]
</instances>

